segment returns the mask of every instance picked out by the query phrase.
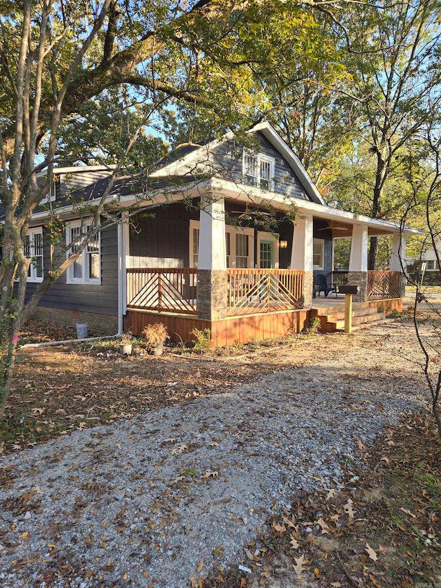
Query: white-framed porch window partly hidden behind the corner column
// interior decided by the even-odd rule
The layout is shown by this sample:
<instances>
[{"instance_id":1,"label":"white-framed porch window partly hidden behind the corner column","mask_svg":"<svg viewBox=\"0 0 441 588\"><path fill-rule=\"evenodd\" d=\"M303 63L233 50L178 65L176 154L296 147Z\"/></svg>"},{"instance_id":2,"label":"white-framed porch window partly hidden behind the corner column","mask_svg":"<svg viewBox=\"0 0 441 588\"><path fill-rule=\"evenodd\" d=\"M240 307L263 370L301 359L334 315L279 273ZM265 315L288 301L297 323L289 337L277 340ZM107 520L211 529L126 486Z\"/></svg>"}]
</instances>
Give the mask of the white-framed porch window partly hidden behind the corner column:
<instances>
[{"instance_id":1,"label":"white-framed porch window partly hidden behind the corner column","mask_svg":"<svg viewBox=\"0 0 441 588\"><path fill-rule=\"evenodd\" d=\"M198 267L199 221L189 224L189 263ZM254 267L254 229L225 227L227 267Z\"/></svg>"}]
</instances>

